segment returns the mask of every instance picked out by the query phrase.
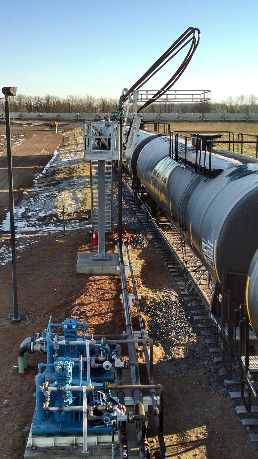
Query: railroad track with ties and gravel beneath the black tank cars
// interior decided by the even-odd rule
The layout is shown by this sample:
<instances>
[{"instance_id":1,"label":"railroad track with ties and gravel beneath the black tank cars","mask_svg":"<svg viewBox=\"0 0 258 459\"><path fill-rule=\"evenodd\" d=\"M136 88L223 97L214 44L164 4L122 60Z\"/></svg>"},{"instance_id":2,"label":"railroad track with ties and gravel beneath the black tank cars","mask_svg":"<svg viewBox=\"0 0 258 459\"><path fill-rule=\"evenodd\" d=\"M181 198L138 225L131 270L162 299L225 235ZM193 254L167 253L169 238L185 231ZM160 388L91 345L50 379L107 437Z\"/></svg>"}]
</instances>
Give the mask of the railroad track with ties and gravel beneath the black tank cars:
<instances>
[{"instance_id":1,"label":"railroad track with ties and gravel beneath the black tank cars","mask_svg":"<svg viewBox=\"0 0 258 459\"><path fill-rule=\"evenodd\" d=\"M152 241L162 255L168 271L176 280L183 299L187 301L188 306L192 307L193 319L198 323L201 334L209 345L214 364L225 364L226 354L229 350L225 342L222 346L222 340L218 334L219 332L221 334L220 322L210 313L212 292L209 290L211 282L208 271L200 263L190 247L181 240L180 234L167 218L160 218L159 225L157 225L149 213L150 209L148 210L143 202L134 202L131 181L130 175L123 175L123 195L137 213L137 217L148 234L152 236ZM236 327L236 341L239 342L239 340L239 327ZM257 344L257 338L252 331L249 332L249 340L251 345ZM250 356L250 362L251 366L256 364L255 356ZM252 429L256 428L258 424L258 408L256 406L258 381L257 378L251 377L250 374L247 375L248 392L246 391L246 386L243 385L241 380L241 378L244 379L242 374L244 364L244 358L242 358L242 365L235 364L230 378L227 377L228 372L226 369L220 369L220 375L227 377L224 384L229 390L231 399L239 399L240 402L242 399L243 404L236 406L236 414L243 416L247 412L251 413L248 419L242 419L241 422L244 428L249 427ZM227 368L227 365L225 365L225 368ZM252 442L258 441L257 434L252 431L249 437Z\"/></svg>"}]
</instances>

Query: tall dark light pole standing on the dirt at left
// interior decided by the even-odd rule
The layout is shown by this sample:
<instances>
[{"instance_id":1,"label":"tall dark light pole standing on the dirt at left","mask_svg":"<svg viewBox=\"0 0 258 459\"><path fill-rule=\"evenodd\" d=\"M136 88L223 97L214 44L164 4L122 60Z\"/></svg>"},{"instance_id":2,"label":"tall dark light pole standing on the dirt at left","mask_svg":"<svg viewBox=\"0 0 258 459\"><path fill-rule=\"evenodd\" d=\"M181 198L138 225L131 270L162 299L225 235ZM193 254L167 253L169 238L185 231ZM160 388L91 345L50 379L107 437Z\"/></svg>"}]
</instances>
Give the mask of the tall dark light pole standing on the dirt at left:
<instances>
[{"instance_id":1,"label":"tall dark light pole standing on the dirt at left","mask_svg":"<svg viewBox=\"0 0 258 459\"><path fill-rule=\"evenodd\" d=\"M19 322L21 322L21 317L18 316L18 301L17 301L13 181L12 181L12 165L11 165L11 128L10 128L9 100L8 100L8 97L10 95L16 95L16 90L17 90L16 86L9 86L7 88L2 88L2 93L5 95L5 128L6 128L6 146L7 146L9 203L10 203L11 267L12 267L12 290L13 290L13 310L14 310L14 317L13 319L11 319L12 324L18 324Z\"/></svg>"}]
</instances>

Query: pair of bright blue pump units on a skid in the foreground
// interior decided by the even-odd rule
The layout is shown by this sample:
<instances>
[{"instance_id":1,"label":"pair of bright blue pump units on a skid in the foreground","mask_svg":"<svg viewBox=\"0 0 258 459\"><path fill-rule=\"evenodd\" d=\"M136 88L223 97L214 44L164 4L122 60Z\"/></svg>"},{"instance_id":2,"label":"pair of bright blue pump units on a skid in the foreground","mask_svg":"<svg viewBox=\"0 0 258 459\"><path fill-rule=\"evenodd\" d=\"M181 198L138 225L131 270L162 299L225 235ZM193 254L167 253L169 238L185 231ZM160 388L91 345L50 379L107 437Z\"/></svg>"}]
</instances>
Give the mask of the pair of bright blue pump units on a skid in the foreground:
<instances>
[{"instance_id":1,"label":"pair of bright blue pump units on a skid in the foreground","mask_svg":"<svg viewBox=\"0 0 258 459\"><path fill-rule=\"evenodd\" d=\"M54 326L62 326L65 341L77 341L76 346L58 344L58 337L53 331ZM82 406L82 392L78 391L50 391L43 392L42 387L51 386L88 386L90 382L94 386L103 386L104 382L114 381L114 368L105 370L104 367L94 369L90 367L91 380L87 381L87 365L82 358L86 357L86 346L81 344L81 337L78 337L78 328L83 326L83 338L85 338L85 322L80 323L76 319L68 318L62 324L51 324L49 322L46 335L47 363L38 365L36 376L36 408L34 411L32 434L33 435L81 435L82 412L80 410L63 410L62 407ZM104 343L103 343L104 344ZM57 359L54 356L58 353ZM82 357L80 357L82 356ZM90 359L95 358L98 364L102 364L110 358L110 347L106 344L89 345ZM78 358L80 357L79 361ZM44 370L45 367L45 370ZM44 370L44 371L43 371ZM43 371L43 372L42 372ZM49 399L46 405L47 397ZM109 434L114 431L114 420L112 420L113 405L118 405L117 398L111 397L110 392L94 390L87 392L87 404L93 407L93 418L87 424L88 434ZM104 405L104 410L98 411L98 405ZM46 408L47 406L47 408ZM55 407L55 411L51 411ZM45 408L45 409L44 409ZM104 414L103 414L104 413Z\"/></svg>"}]
</instances>

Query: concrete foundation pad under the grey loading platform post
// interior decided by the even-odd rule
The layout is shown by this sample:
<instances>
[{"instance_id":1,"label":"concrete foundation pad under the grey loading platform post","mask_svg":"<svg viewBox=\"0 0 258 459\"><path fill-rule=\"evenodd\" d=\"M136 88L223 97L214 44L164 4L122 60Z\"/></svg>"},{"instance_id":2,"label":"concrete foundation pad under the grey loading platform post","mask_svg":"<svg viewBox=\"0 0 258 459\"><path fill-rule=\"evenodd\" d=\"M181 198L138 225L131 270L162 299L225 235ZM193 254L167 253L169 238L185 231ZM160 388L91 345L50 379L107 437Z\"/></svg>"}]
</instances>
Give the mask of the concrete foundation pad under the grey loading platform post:
<instances>
[{"instance_id":1,"label":"concrete foundation pad under the grey loading platform post","mask_svg":"<svg viewBox=\"0 0 258 459\"><path fill-rule=\"evenodd\" d=\"M93 255L96 255L96 253L79 253L76 265L77 273L120 275L120 272L117 269L117 266L119 265L118 253L109 253L109 260L93 260Z\"/></svg>"}]
</instances>

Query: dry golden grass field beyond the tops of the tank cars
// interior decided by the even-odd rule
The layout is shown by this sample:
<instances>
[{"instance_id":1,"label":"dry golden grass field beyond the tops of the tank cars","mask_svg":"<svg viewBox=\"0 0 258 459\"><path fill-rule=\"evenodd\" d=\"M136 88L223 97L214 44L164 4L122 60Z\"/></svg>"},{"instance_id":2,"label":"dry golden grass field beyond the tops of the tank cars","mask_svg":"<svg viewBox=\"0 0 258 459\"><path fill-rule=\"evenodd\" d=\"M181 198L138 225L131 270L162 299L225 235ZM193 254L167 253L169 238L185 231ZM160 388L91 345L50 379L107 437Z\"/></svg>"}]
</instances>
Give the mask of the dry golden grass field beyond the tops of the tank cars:
<instances>
[{"instance_id":1,"label":"dry golden grass field beyond the tops of the tank cars","mask_svg":"<svg viewBox=\"0 0 258 459\"><path fill-rule=\"evenodd\" d=\"M199 133L200 131L210 132L215 131L219 132L233 132L235 135L235 140L237 140L237 134L253 134L258 135L258 123L238 123L238 122L229 122L225 123L223 121L168 121L170 123L170 130L174 132L178 131L190 131L191 133ZM153 131L154 125L148 123L148 130ZM163 132L163 126L159 126L160 132ZM190 134L189 134L190 135ZM232 134L231 134L232 139ZM225 134L225 140L228 140L228 134ZM241 138L239 139L241 140ZM254 137L244 136L243 140L256 141ZM221 149L228 149L227 144ZM233 151L233 144L231 145L231 151ZM234 151L237 151L237 145L234 147ZM239 152L241 152L241 145L239 145ZM243 154L255 156L256 154L256 145L255 144L243 144Z\"/></svg>"}]
</instances>

